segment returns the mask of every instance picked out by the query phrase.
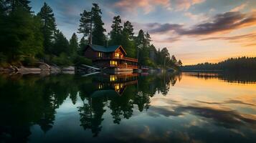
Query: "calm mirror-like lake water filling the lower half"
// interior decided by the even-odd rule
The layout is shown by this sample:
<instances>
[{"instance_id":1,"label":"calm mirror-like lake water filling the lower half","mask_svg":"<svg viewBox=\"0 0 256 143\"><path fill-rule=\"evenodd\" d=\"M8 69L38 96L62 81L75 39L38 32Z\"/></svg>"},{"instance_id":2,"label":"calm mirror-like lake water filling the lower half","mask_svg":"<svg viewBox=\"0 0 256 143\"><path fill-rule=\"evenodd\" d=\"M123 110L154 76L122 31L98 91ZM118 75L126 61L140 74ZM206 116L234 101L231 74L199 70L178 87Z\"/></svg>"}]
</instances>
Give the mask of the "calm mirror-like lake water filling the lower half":
<instances>
[{"instance_id":1,"label":"calm mirror-like lake water filling the lower half","mask_svg":"<svg viewBox=\"0 0 256 143\"><path fill-rule=\"evenodd\" d=\"M0 142L255 142L256 76L0 76Z\"/></svg>"}]
</instances>

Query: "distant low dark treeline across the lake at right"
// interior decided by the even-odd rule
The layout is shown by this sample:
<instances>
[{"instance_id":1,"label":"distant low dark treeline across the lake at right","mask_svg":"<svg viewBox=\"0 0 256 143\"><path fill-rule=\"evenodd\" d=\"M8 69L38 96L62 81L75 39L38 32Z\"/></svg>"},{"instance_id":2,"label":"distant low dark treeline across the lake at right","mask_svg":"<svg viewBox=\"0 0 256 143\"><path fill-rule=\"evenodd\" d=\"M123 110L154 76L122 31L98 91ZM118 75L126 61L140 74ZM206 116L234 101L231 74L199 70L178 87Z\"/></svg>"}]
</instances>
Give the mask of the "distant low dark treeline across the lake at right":
<instances>
[{"instance_id":1,"label":"distant low dark treeline across the lake at right","mask_svg":"<svg viewBox=\"0 0 256 143\"><path fill-rule=\"evenodd\" d=\"M232 70L232 71L242 71L242 70L256 70L256 57L238 57L229 58L224 61L220 61L217 64L212 63L202 63L196 65L183 66L181 68L184 71L189 70Z\"/></svg>"}]
</instances>

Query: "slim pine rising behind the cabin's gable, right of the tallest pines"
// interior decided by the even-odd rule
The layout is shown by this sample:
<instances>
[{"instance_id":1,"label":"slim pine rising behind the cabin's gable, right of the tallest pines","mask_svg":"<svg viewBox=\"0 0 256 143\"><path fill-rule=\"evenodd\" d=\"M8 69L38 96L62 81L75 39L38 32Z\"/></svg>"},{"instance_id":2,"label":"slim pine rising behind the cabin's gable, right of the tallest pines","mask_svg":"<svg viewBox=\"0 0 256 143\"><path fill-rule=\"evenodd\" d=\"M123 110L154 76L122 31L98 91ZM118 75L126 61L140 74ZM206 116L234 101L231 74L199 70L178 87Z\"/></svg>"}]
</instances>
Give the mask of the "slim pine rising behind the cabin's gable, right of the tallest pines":
<instances>
[{"instance_id":1,"label":"slim pine rising behind the cabin's gable, right of the tallest pines","mask_svg":"<svg viewBox=\"0 0 256 143\"><path fill-rule=\"evenodd\" d=\"M122 23L120 16L114 16L113 24L111 26L112 30L110 31L110 44L120 44L121 41L121 32L123 26L120 24Z\"/></svg>"}]
</instances>

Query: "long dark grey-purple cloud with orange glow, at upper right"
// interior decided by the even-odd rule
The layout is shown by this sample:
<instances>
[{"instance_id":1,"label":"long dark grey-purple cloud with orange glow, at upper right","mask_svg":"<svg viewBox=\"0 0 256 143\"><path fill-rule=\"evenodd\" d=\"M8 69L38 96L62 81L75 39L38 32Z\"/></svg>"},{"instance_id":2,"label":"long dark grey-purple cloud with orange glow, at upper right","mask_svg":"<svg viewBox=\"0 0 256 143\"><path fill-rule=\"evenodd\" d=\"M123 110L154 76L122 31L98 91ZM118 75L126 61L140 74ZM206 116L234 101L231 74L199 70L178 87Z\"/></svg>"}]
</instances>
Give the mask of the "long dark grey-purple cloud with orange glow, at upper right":
<instances>
[{"instance_id":1,"label":"long dark grey-purple cloud with orange glow, at upper right","mask_svg":"<svg viewBox=\"0 0 256 143\"><path fill-rule=\"evenodd\" d=\"M214 33L227 33L235 29L240 29L247 26L254 26L256 24L256 14L242 14L240 12L226 12L224 14L217 14L212 19L204 21L200 24L184 28L181 24L147 24L151 33L167 33L175 31L179 35L207 35Z\"/></svg>"}]
</instances>

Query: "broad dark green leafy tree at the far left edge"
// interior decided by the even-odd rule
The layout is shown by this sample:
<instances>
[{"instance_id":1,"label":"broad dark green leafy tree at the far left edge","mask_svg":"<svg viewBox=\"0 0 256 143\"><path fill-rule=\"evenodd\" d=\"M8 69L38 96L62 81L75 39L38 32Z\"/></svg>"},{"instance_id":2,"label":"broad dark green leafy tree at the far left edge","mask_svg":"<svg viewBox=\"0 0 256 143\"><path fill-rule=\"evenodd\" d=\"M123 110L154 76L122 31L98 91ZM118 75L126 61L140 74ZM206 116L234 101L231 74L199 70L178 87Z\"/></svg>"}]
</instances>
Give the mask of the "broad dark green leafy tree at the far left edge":
<instances>
[{"instance_id":1,"label":"broad dark green leafy tree at the far left edge","mask_svg":"<svg viewBox=\"0 0 256 143\"><path fill-rule=\"evenodd\" d=\"M34 57L42 54L41 23L37 16L17 6L8 15L4 15L0 23L1 52L9 61L22 60L24 56Z\"/></svg>"}]
</instances>

